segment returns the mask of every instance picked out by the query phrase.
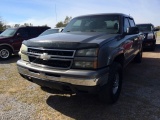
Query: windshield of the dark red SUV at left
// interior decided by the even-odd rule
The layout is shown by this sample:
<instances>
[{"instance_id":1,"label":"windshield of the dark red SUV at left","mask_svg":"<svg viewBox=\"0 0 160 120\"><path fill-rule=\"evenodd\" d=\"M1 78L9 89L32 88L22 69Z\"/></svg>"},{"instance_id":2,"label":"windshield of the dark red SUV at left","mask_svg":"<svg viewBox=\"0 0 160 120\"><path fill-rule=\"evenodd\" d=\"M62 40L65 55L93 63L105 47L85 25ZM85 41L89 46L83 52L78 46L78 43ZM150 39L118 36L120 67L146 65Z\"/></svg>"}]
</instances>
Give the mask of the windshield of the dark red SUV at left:
<instances>
[{"instance_id":1,"label":"windshield of the dark red SUV at left","mask_svg":"<svg viewBox=\"0 0 160 120\"><path fill-rule=\"evenodd\" d=\"M0 34L1 37L11 37L16 33L17 29L6 29Z\"/></svg>"}]
</instances>

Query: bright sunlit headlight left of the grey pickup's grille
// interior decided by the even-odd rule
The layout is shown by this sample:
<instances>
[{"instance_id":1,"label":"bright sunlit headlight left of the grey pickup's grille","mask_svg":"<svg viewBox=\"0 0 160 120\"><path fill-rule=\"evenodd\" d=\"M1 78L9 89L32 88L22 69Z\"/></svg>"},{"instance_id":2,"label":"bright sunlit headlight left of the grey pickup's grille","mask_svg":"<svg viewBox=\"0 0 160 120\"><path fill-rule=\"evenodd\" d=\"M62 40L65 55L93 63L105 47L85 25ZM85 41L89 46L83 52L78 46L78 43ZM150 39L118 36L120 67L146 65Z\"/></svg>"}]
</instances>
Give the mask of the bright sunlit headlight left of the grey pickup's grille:
<instances>
[{"instance_id":1,"label":"bright sunlit headlight left of the grey pickup's grille","mask_svg":"<svg viewBox=\"0 0 160 120\"><path fill-rule=\"evenodd\" d=\"M27 56L27 51L28 51L28 47L24 44L22 44L21 49L19 51L19 55L21 56L21 59L24 61L29 61L28 56Z\"/></svg>"}]
</instances>

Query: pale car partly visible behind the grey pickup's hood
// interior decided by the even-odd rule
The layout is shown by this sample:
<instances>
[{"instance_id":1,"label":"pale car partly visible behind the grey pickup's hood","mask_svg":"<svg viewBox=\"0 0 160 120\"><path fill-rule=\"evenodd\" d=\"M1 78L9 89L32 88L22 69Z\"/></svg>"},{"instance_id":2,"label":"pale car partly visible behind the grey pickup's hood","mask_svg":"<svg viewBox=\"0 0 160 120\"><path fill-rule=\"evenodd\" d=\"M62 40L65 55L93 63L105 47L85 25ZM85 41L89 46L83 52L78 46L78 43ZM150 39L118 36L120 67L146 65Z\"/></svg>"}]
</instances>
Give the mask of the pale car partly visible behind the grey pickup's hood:
<instances>
[{"instance_id":1,"label":"pale car partly visible behind the grey pickup's hood","mask_svg":"<svg viewBox=\"0 0 160 120\"><path fill-rule=\"evenodd\" d=\"M54 34L54 33L59 33L59 32L62 32L63 29L64 29L64 28L48 29L48 30L44 31L43 33L41 33L39 36L49 35L49 34Z\"/></svg>"}]
</instances>

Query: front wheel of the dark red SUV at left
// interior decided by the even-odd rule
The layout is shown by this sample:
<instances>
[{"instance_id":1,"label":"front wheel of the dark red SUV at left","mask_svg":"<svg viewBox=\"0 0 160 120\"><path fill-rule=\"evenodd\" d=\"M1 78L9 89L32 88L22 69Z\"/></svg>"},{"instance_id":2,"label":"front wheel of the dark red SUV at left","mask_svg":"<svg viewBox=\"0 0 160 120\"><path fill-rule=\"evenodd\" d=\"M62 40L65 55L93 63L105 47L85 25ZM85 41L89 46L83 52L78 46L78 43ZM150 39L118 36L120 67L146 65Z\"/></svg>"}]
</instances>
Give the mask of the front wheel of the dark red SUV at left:
<instances>
[{"instance_id":1,"label":"front wheel of the dark red SUV at left","mask_svg":"<svg viewBox=\"0 0 160 120\"><path fill-rule=\"evenodd\" d=\"M11 57L11 49L8 47L0 47L0 60L7 60Z\"/></svg>"}]
</instances>

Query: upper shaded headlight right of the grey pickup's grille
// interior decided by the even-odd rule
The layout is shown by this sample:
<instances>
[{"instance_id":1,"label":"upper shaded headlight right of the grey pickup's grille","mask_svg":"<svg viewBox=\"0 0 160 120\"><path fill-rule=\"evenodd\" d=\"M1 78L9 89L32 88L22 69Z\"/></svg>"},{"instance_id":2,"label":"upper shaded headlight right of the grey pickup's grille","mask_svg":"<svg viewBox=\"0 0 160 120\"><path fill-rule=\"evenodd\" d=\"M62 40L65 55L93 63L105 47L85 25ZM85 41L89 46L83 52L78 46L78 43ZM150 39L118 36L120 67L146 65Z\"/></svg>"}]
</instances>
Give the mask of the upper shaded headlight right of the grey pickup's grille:
<instances>
[{"instance_id":1,"label":"upper shaded headlight right of the grey pickup's grille","mask_svg":"<svg viewBox=\"0 0 160 120\"><path fill-rule=\"evenodd\" d=\"M97 56L98 54L98 49L97 48L92 48L92 49L82 49L82 50L78 50L76 52L76 56L89 56L89 57L92 57L92 56Z\"/></svg>"}]
</instances>

